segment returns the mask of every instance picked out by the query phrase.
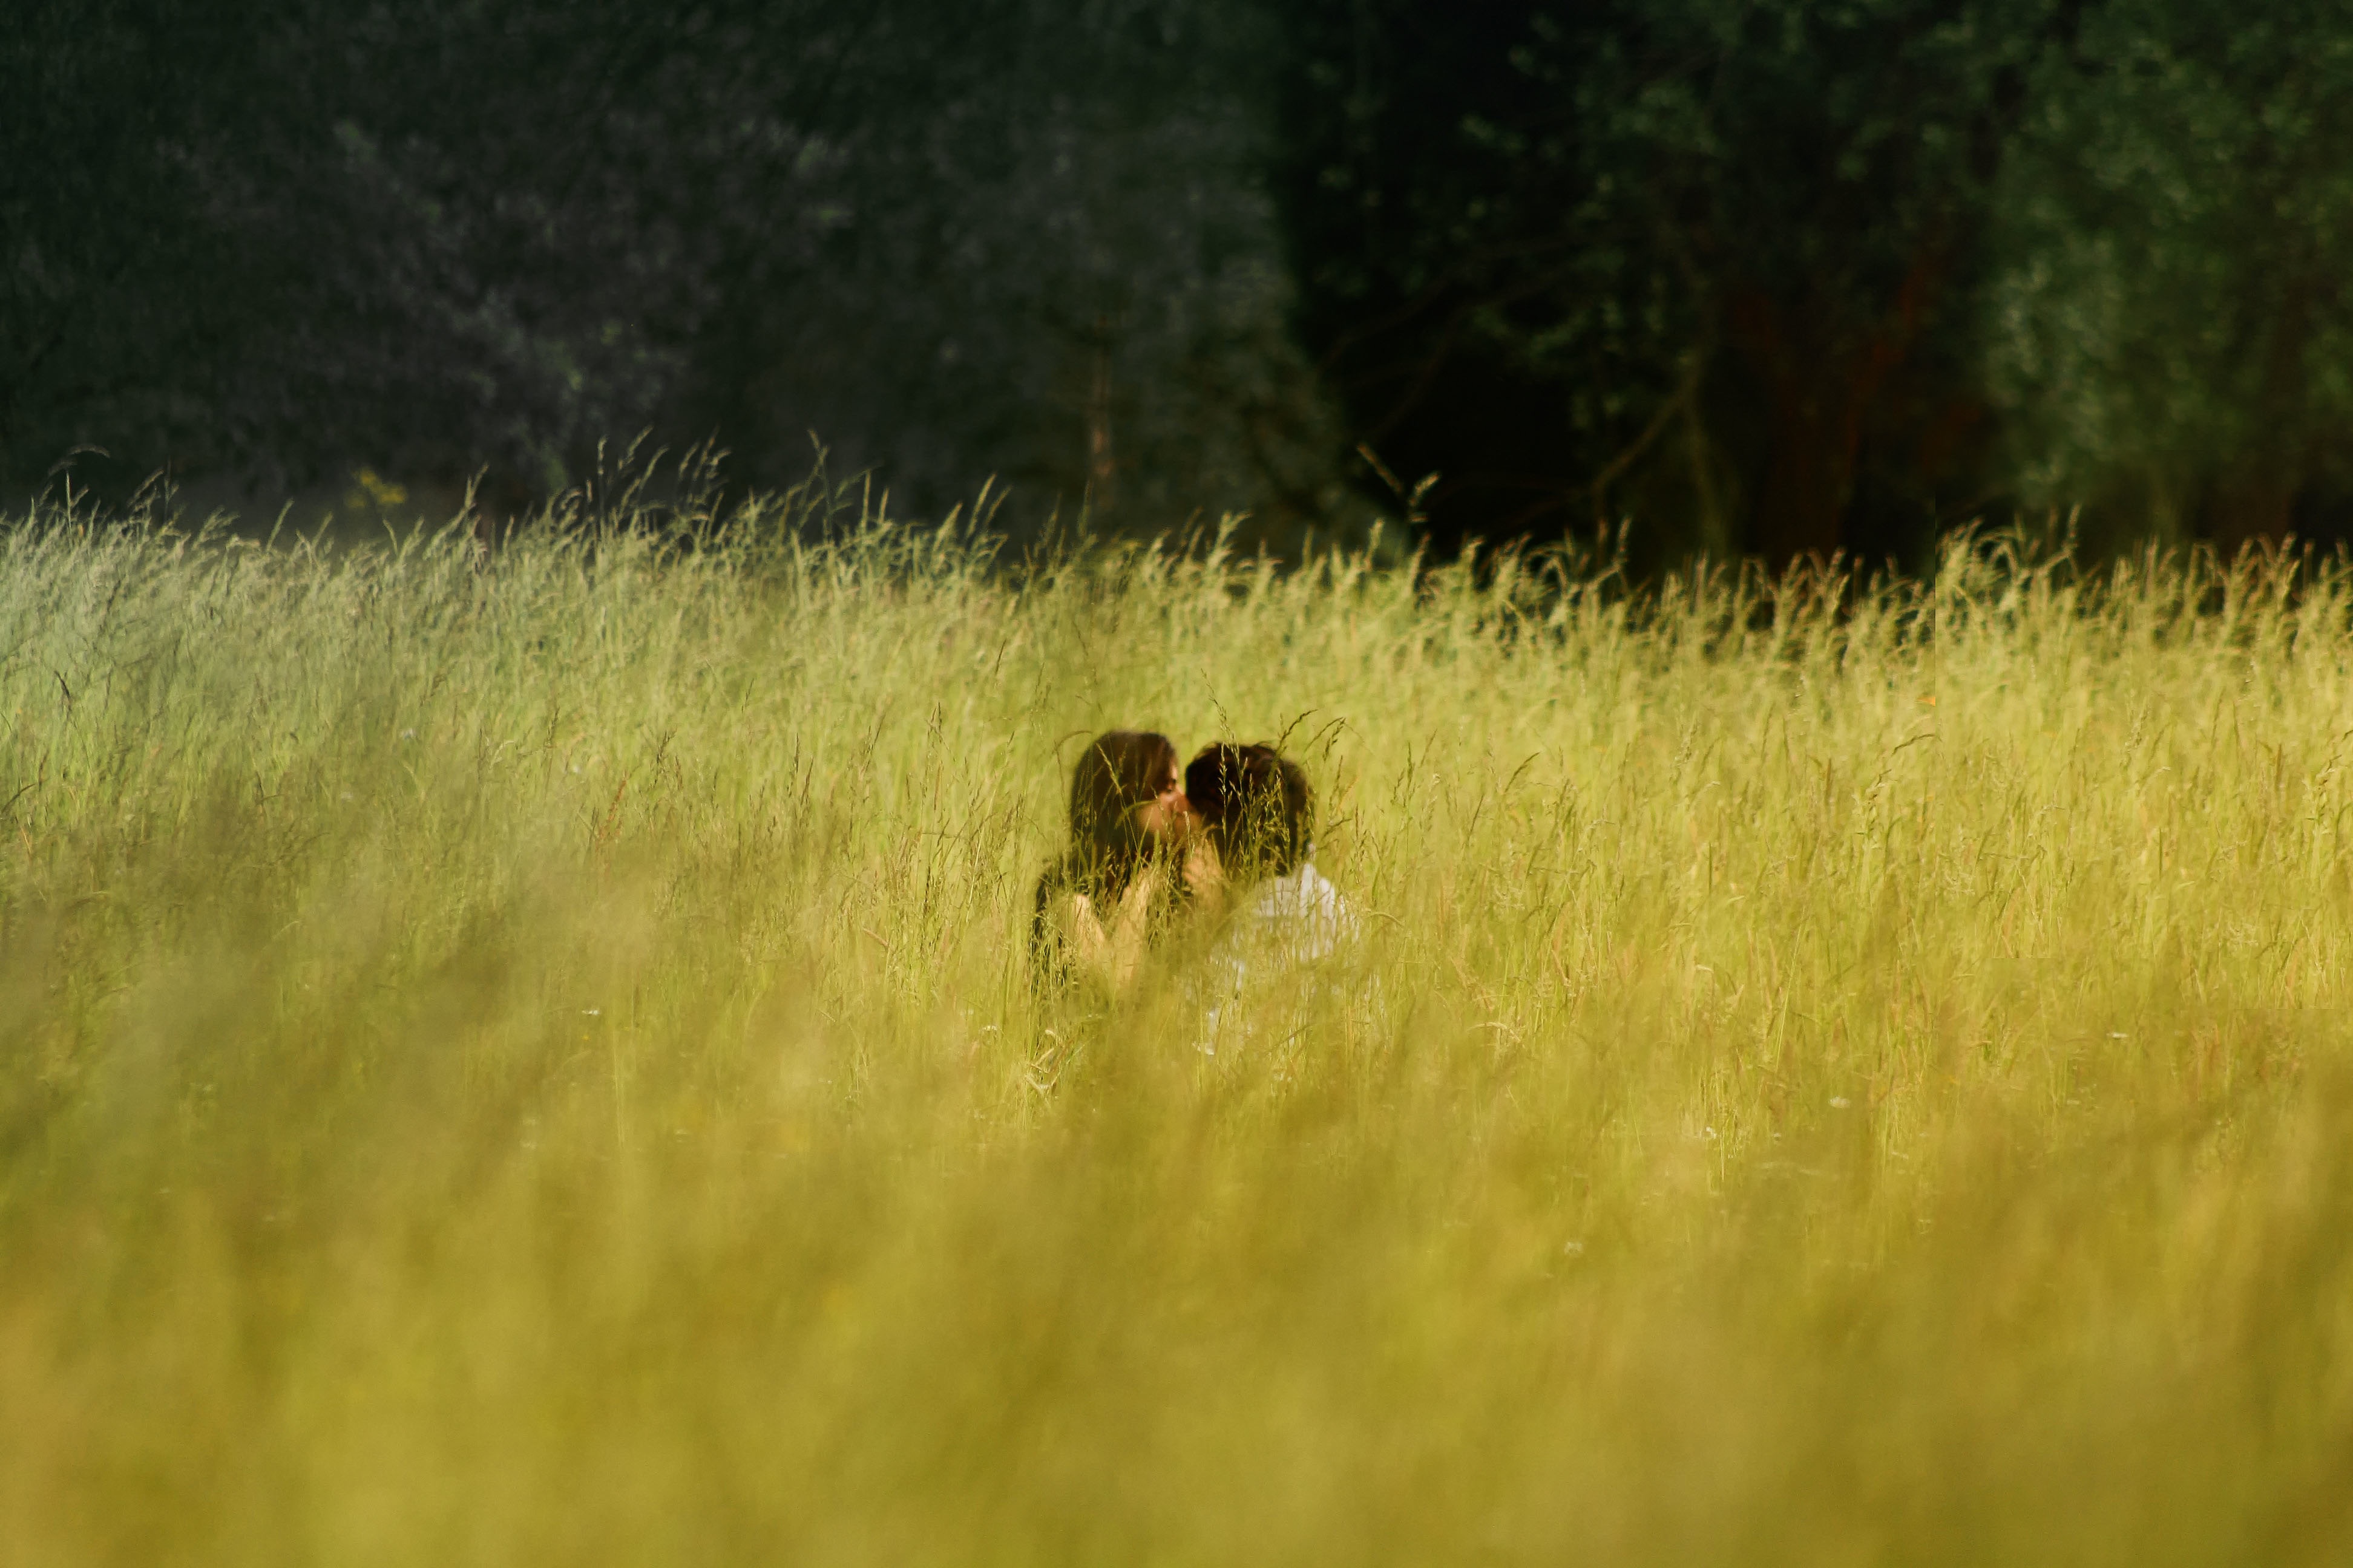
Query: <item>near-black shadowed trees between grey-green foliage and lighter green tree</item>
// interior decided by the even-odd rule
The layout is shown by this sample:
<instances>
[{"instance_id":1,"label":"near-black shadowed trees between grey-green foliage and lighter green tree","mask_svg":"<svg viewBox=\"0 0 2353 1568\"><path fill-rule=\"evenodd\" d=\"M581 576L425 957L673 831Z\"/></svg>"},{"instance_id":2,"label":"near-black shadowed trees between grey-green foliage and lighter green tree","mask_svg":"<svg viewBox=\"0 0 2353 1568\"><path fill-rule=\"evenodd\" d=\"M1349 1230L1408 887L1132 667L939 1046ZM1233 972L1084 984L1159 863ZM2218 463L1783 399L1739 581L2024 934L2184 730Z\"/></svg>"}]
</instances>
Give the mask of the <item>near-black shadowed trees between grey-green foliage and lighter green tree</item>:
<instances>
[{"instance_id":1,"label":"near-black shadowed trees between grey-green foliage and lighter green tree","mask_svg":"<svg viewBox=\"0 0 2353 1568\"><path fill-rule=\"evenodd\" d=\"M1779 557L1925 534L1974 484L1984 209L2049 28L2045 0L1306 5L1311 339L1466 527L1515 491Z\"/></svg>"}]
</instances>

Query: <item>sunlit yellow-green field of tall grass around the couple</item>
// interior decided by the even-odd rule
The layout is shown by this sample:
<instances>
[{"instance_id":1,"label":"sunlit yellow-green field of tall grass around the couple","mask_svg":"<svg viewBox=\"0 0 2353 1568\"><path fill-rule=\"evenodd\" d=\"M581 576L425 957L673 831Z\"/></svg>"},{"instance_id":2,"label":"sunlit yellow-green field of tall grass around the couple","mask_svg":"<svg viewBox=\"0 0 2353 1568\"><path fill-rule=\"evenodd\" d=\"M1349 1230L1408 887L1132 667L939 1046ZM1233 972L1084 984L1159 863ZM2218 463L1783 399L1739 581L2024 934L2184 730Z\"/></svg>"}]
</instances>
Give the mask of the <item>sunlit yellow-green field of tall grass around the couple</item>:
<instances>
[{"instance_id":1,"label":"sunlit yellow-green field of tall grass around the couple","mask_svg":"<svg viewBox=\"0 0 2353 1568\"><path fill-rule=\"evenodd\" d=\"M2344 571L624 524L0 534L0 1563L2353 1552ZM1040 1006L1108 726L1351 985Z\"/></svg>"}]
</instances>

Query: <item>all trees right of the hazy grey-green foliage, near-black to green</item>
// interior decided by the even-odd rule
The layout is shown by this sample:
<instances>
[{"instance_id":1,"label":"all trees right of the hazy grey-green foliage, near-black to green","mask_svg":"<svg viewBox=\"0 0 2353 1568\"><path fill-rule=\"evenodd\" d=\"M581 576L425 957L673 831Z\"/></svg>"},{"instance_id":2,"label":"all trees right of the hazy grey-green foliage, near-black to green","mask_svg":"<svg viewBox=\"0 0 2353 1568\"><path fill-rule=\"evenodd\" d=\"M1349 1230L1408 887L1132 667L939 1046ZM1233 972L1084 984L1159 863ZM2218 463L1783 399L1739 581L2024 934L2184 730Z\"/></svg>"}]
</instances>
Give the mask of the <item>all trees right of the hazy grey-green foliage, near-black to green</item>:
<instances>
[{"instance_id":1,"label":"all trees right of the hazy grey-green foliage, near-black to green","mask_svg":"<svg viewBox=\"0 0 2353 1568\"><path fill-rule=\"evenodd\" d=\"M1306 339L1442 531L1913 564L2009 505L2341 531L2339 2L1292 16Z\"/></svg>"}]
</instances>

